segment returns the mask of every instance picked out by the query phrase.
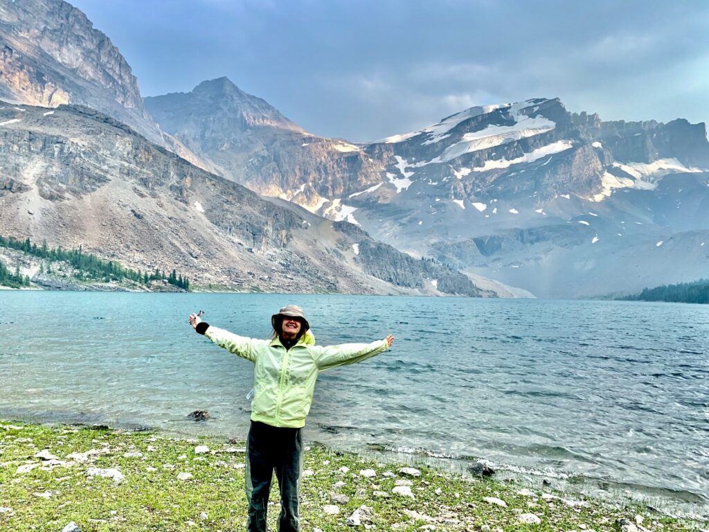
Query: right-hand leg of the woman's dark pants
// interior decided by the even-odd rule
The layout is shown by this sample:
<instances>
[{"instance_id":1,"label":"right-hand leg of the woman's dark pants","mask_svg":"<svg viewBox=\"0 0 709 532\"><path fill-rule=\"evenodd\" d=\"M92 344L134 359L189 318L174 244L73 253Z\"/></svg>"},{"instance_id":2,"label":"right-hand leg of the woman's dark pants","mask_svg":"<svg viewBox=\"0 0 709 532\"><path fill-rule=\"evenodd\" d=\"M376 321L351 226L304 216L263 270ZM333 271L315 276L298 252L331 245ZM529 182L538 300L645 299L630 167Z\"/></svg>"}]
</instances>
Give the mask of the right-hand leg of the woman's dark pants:
<instances>
[{"instance_id":1,"label":"right-hand leg of the woman's dark pants","mask_svg":"<svg viewBox=\"0 0 709 532\"><path fill-rule=\"evenodd\" d=\"M289 430L289 429L286 429ZM291 432L292 431L292 432ZM298 493L302 465L303 436L300 428L284 433L276 460L276 477L281 490L279 532L299 532Z\"/></svg>"}]
</instances>

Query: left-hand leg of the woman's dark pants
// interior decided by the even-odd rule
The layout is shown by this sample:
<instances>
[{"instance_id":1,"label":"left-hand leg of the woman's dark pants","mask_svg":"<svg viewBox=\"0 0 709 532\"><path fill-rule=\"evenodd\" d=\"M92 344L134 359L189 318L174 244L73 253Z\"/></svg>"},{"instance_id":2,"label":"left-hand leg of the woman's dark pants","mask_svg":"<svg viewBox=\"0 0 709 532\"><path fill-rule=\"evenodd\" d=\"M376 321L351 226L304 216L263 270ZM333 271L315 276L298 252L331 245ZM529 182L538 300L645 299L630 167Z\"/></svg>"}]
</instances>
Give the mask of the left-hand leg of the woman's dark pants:
<instances>
[{"instance_id":1,"label":"left-hand leg of the woman's dark pants","mask_svg":"<svg viewBox=\"0 0 709 532\"><path fill-rule=\"evenodd\" d=\"M249 501L247 532L267 532L268 497L274 470L271 438L260 424L251 423L246 441L246 499Z\"/></svg>"}]
</instances>

